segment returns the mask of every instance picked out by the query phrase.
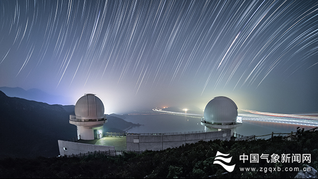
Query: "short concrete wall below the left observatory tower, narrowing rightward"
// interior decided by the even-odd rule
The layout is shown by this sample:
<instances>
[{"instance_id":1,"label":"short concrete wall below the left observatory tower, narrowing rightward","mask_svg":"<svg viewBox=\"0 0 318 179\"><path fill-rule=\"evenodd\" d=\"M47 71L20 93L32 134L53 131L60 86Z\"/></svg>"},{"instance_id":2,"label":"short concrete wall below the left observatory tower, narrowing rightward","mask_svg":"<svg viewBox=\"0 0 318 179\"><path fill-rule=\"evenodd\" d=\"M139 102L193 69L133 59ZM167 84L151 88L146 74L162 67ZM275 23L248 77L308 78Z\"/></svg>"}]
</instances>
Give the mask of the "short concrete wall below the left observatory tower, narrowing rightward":
<instances>
[{"instance_id":1,"label":"short concrete wall below the left observatory tower, narrowing rightward","mask_svg":"<svg viewBox=\"0 0 318 179\"><path fill-rule=\"evenodd\" d=\"M92 144L83 144L77 142L69 142L64 140L58 140L60 155L76 155L79 153L88 153L94 151L114 151L114 146L102 146L102 145L92 145Z\"/></svg>"}]
</instances>

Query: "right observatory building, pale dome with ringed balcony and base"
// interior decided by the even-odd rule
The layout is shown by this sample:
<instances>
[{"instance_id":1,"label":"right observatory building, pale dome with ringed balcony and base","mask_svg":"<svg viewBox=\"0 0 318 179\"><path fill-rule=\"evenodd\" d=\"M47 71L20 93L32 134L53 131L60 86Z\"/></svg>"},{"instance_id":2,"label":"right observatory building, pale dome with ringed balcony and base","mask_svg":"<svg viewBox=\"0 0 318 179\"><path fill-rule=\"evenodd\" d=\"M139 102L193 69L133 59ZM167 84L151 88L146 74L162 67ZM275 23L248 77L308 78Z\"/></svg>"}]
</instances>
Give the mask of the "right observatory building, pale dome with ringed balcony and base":
<instances>
[{"instance_id":1,"label":"right observatory building, pale dome with ringed balcony and base","mask_svg":"<svg viewBox=\"0 0 318 179\"><path fill-rule=\"evenodd\" d=\"M201 125L205 132L231 130L231 136L236 133L236 128L242 125L237 120L237 106L230 98L225 96L214 97L204 109Z\"/></svg>"}]
</instances>

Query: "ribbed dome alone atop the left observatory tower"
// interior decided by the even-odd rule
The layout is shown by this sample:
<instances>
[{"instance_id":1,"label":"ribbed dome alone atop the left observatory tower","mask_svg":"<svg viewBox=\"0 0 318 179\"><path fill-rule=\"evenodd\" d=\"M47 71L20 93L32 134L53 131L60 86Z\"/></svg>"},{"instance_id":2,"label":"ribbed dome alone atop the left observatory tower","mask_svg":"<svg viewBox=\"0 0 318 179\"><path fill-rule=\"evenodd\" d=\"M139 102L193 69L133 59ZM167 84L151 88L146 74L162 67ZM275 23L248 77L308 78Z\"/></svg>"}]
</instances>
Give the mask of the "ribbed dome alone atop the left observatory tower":
<instances>
[{"instance_id":1,"label":"ribbed dome alone atop the left observatory tower","mask_svg":"<svg viewBox=\"0 0 318 179\"><path fill-rule=\"evenodd\" d=\"M104 118L103 102L95 94L85 94L76 102L75 115L78 119Z\"/></svg>"}]
</instances>

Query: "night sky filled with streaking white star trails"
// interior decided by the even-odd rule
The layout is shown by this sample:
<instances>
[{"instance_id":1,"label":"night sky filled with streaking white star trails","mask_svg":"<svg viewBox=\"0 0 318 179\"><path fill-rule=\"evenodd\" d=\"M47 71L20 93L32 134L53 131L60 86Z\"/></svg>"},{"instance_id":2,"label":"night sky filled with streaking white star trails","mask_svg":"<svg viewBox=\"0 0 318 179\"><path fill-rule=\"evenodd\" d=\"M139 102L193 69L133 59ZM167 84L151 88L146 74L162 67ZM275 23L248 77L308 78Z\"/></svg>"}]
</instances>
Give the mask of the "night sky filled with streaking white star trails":
<instances>
[{"instance_id":1,"label":"night sky filled with streaking white star trails","mask_svg":"<svg viewBox=\"0 0 318 179\"><path fill-rule=\"evenodd\" d=\"M219 95L318 112L318 1L0 0L4 86L95 93L105 113Z\"/></svg>"}]
</instances>

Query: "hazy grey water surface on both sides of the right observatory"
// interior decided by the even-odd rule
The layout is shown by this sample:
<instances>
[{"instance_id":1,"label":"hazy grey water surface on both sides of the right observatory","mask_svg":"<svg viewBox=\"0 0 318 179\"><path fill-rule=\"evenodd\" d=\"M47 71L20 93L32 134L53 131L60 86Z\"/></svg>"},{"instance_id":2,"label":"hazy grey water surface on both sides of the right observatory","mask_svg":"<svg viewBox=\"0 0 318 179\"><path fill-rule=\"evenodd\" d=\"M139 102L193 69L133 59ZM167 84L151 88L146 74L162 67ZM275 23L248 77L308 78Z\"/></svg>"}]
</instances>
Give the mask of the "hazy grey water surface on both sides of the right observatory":
<instances>
[{"instance_id":1,"label":"hazy grey water surface on both sides of the right observatory","mask_svg":"<svg viewBox=\"0 0 318 179\"><path fill-rule=\"evenodd\" d=\"M240 114L239 114L240 116ZM305 128L305 130L315 128L315 126L304 126L296 124L286 124L277 122L263 122L252 121L247 119L253 119L252 117L242 116L243 125L236 129L237 134L250 136L250 135L265 135L273 133L293 133L296 132L296 128ZM133 127L127 130L128 133L184 133L204 131L204 126L200 124L201 118L171 115L164 113L146 113L136 112L131 115L125 115L123 117L128 122L139 123L142 126ZM245 119L244 119L245 118ZM255 116L256 118L256 116ZM268 120L282 119L282 117L265 116ZM297 119L295 119L296 121ZM106 124L107 125L107 124ZM263 136L261 138L270 138L269 136Z\"/></svg>"}]
</instances>

